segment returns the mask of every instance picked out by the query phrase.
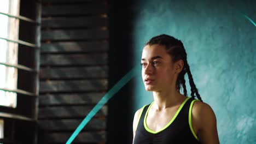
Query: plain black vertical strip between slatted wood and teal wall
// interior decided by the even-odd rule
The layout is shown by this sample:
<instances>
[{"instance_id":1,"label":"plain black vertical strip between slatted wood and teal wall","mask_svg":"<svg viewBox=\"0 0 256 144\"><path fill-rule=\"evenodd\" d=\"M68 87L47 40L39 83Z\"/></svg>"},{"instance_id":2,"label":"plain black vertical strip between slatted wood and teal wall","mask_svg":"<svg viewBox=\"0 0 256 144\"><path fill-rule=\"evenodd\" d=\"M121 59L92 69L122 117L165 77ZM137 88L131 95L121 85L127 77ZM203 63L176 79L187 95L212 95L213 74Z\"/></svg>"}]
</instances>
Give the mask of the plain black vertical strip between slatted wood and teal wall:
<instances>
[{"instance_id":1,"label":"plain black vertical strip between slatted wood and teal wall","mask_svg":"<svg viewBox=\"0 0 256 144\"><path fill-rule=\"evenodd\" d=\"M132 1L110 1L109 88L133 67L132 35L134 17ZM132 89L128 82L109 100L107 143L132 143Z\"/></svg>"}]
</instances>

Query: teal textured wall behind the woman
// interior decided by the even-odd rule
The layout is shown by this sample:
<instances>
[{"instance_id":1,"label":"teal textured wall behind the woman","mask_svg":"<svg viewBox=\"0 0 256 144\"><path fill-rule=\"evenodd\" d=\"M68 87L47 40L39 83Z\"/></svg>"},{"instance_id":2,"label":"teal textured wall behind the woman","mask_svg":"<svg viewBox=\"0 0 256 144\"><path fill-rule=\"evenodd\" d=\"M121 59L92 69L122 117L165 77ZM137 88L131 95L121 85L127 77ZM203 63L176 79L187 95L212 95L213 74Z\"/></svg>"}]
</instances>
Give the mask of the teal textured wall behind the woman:
<instances>
[{"instance_id":1,"label":"teal textured wall behind the woman","mask_svg":"<svg viewBox=\"0 0 256 144\"><path fill-rule=\"evenodd\" d=\"M195 85L216 113L220 143L256 143L256 26L246 18L256 22L256 1L138 0L133 13L134 64L153 36L182 40ZM134 112L153 100L141 74L133 95Z\"/></svg>"}]
</instances>

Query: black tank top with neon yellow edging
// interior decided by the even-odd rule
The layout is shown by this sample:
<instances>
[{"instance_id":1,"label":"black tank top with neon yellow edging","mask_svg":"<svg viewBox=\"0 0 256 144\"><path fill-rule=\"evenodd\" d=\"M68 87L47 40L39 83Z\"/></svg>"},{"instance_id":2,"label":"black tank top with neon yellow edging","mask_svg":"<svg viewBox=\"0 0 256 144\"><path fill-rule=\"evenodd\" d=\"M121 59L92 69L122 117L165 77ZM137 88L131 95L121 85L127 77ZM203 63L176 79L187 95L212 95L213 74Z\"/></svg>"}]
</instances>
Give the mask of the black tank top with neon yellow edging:
<instances>
[{"instance_id":1,"label":"black tank top with neon yellow edging","mask_svg":"<svg viewBox=\"0 0 256 144\"><path fill-rule=\"evenodd\" d=\"M195 100L189 97L184 100L172 120L158 131L150 130L146 124L148 110L154 102L143 106L133 144L200 143L191 126L191 110Z\"/></svg>"}]
</instances>

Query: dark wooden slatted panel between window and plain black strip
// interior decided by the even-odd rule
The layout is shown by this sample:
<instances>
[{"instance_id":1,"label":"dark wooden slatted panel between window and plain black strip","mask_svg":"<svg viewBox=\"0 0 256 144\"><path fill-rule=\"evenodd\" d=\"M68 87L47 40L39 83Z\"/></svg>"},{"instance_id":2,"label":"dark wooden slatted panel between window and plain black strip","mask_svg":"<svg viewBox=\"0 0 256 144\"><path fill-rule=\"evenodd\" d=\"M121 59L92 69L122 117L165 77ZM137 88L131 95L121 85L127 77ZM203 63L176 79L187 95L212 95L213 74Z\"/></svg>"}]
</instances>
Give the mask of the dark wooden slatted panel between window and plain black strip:
<instances>
[{"instance_id":1,"label":"dark wooden slatted panel between window and plain black strip","mask_svg":"<svg viewBox=\"0 0 256 144\"><path fill-rule=\"evenodd\" d=\"M66 143L108 88L108 2L43 0L39 143ZM72 143L106 141L107 105Z\"/></svg>"}]
</instances>

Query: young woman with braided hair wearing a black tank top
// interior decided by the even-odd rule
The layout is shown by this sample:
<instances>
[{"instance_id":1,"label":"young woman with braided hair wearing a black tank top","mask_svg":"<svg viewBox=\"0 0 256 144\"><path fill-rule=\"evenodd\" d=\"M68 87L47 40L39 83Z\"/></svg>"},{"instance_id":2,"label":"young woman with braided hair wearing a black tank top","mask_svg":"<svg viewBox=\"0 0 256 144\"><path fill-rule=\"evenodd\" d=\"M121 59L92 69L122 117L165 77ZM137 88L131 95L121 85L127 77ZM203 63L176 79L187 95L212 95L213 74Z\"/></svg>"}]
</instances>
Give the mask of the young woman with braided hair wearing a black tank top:
<instances>
[{"instance_id":1,"label":"young woman with braided hair wearing a black tank top","mask_svg":"<svg viewBox=\"0 0 256 144\"><path fill-rule=\"evenodd\" d=\"M133 144L219 143L216 116L197 91L183 43L166 34L153 37L143 48L141 65L144 86L154 101L135 113Z\"/></svg>"}]
</instances>

